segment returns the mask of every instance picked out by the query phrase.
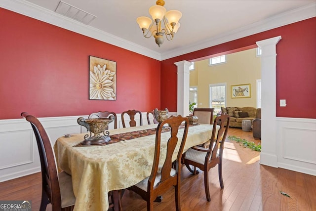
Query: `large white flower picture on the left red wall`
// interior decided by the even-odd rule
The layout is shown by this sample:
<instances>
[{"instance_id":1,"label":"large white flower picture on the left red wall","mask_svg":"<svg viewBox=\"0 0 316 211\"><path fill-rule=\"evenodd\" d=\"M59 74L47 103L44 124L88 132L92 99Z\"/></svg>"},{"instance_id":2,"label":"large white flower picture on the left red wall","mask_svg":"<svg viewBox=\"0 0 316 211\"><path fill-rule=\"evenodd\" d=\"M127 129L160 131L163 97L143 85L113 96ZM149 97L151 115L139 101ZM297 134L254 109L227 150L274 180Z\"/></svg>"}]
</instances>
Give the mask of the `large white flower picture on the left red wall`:
<instances>
[{"instance_id":1,"label":"large white flower picture on the left red wall","mask_svg":"<svg viewBox=\"0 0 316 211\"><path fill-rule=\"evenodd\" d=\"M117 62L89 56L89 100L117 99Z\"/></svg>"}]
</instances>

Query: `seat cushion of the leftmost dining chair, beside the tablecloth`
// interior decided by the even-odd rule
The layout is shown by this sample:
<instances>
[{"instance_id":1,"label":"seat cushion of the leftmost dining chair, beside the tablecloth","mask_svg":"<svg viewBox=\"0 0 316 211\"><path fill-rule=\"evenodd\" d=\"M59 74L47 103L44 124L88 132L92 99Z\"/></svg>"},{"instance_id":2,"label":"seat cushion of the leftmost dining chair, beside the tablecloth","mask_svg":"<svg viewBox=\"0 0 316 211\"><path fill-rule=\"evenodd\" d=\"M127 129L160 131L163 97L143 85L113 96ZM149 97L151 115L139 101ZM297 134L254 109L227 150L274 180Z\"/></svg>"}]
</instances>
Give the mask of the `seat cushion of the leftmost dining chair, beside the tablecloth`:
<instances>
[{"instance_id":1,"label":"seat cushion of the leftmost dining chair, beside the tablecloth","mask_svg":"<svg viewBox=\"0 0 316 211\"><path fill-rule=\"evenodd\" d=\"M58 174L58 182L60 187L61 207L66 208L75 205L76 197L73 191L73 182L71 175L62 171Z\"/></svg>"}]
</instances>

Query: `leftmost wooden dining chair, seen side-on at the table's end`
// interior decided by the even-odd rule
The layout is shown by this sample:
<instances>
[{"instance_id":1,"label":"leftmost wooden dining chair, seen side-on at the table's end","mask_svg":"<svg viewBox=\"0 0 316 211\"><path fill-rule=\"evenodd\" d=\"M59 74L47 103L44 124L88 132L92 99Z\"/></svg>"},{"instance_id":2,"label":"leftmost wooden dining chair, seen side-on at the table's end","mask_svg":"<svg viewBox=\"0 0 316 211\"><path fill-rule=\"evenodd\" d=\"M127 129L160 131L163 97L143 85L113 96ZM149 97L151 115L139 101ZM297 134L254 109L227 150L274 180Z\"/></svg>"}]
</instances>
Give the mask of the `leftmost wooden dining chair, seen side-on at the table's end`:
<instances>
[{"instance_id":1,"label":"leftmost wooden dining chair, seen side-on at the table's end","mask_svg":"<svg viewBox=\"0 0 316 211\"><path fill-rule=\"evenodd\" d=\"M49 203L52 211L72 210L76 197L71 175L64 171L57 175L51 143L40 121L26 112L21 113L21 116L31 123L40 153L42 177L40 211L45 211Z\"/></svg>"}]
</instances>

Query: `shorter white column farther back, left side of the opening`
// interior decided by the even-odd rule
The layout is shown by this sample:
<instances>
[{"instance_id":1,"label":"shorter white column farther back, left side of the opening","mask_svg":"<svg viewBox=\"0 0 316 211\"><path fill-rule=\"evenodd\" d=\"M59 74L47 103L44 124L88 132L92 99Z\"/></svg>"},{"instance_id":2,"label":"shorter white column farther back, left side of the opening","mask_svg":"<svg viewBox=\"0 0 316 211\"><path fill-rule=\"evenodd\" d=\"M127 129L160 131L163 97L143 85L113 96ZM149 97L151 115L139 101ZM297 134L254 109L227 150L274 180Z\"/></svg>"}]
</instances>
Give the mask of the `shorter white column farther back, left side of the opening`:
<instances>
[{"instance_id":1,"label":"shorter white column farther back, left side of the opening","mask_svg":"<svg viewBox=\"0 0 316 211\"><path fill-rule=\"evenodd\" d=\"M190 88L190 70L191 62L175 62L178 67L178 85L177 85L177 115L188 116L189 111L189 88Z\"/></svg>"}]
</instances>

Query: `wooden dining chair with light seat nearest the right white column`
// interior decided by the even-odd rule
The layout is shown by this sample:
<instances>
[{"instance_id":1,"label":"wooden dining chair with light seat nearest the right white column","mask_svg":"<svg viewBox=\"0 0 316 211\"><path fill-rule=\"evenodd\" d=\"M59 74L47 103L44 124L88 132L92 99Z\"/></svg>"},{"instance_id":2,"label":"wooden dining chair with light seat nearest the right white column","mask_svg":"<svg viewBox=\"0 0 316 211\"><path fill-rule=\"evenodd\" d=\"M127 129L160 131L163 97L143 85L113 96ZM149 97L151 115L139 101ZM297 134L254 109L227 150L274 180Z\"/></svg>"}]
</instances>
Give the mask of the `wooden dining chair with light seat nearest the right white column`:
<instances>
[{"instance_id":1,"label":"wooden dining chair with light seat nearest the right white column","mask_svg":"<svg viewBox=\"0 0 316 211\"><path fill-rule=\"evenodd\" d=\"M225 122L227 121L227 126L225 127ZM224 188L223 183L223 150L224 142L227 136L229 128L229 115L221 115L215 118L212 130L212 136L210 139L210 144L207 149L202 147L192 147L183 154L183 164L193 173L198 173L198 169L204 171L204 188L207 201L211 201L209 187L208 187L208 171L218 164L218 176L221 188ZM216 132L216 127L220 128ZM194 169L191 169L191 166Z\"/></svg>"}]
</instances>

